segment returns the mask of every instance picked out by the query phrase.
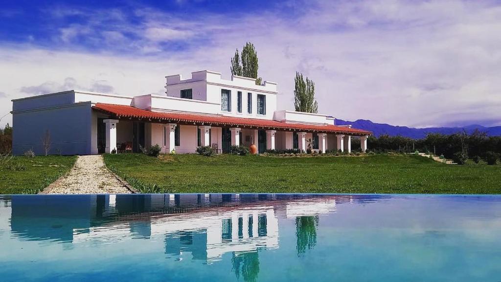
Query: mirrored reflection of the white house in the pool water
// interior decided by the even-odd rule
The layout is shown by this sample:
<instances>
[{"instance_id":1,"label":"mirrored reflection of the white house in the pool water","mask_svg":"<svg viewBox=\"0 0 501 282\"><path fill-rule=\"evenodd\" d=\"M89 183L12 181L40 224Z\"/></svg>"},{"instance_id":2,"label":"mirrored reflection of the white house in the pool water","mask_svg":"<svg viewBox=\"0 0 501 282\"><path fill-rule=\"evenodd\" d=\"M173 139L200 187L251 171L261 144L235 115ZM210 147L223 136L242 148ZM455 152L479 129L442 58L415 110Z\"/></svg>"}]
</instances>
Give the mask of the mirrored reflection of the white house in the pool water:
<instances>
[{"instance_id":1,"label":"mirrored reflection of the white house in the pool water","mask_svg":"<svg viewBox=\"0 0 501 282\"><path fill-rule=\"evenodd\" d=\"M13 233L26 239L113 242L160 238L165 253L208 263L278 248L279 218L335 211L336 195L139 194L13 196Z\"/></svg>"}]
</instances>

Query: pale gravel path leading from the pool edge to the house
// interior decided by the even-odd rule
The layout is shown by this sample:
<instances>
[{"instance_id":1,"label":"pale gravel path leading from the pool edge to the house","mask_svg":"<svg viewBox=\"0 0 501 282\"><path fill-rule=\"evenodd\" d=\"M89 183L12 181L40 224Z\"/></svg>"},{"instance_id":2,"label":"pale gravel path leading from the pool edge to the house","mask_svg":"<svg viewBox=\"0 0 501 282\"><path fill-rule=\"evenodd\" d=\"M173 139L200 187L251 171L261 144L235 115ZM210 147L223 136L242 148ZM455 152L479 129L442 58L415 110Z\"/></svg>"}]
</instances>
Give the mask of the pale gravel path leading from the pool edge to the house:
<instances>
[{"instance_id":1,"label":"pale gravel path leading from the pool edge to the house","mask_svg":"<svg viewBox=\"0 0 501 282\"><path fill-rule=\"evenodd\" d=\"M47 190L51 194L130 193L106 168L102 155L79 156L70 173Z\"/></svg>"}]
</instances>

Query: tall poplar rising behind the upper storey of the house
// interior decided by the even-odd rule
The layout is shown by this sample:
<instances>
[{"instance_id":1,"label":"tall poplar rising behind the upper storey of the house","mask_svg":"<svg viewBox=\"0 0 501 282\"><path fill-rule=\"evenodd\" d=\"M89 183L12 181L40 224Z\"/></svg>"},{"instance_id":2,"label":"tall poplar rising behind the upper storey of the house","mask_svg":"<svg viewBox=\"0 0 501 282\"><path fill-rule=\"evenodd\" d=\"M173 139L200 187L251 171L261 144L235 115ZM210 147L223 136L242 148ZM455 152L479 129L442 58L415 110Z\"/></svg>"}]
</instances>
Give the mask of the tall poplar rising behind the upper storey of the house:
<instances>
[{"instance_id":1,"label":"tall poplar rising behind the upper storey of the house","mask_svg":"<svg viewBox=\"0 0 501 282\"><path fill-rule=\"evenodd\" d=\"M231 74L256 78L256 84L261 85L263 79L258 77L258 68L258 53L253 43L245 43L240 56L238 56L238 49L236 49L235 54L231 58Z\"/></svg>"}]
</instances>

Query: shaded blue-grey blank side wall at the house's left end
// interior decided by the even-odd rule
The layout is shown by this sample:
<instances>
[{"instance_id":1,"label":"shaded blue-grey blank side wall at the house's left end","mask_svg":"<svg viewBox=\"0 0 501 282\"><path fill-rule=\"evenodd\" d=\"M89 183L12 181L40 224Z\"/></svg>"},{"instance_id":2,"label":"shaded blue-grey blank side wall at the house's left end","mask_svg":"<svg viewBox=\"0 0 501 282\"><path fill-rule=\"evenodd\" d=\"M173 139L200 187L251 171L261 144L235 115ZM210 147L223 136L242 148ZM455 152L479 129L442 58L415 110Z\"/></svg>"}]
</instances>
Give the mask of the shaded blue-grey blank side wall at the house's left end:
<instances>
[{"instance_id":1,"label":"shaded blue-grey blank side wall at the house's left end","mask_svg":"<svg viewBox=\"0 0 501 282\"><path fill-rule=\"evenodd\" d=\"M13 112L13 153L21 155L33 148L44 154L42 137L46 130L51 135L51 154L92 153L91 103L78 103L48 109Z\"/></svg>"}]
</instances>

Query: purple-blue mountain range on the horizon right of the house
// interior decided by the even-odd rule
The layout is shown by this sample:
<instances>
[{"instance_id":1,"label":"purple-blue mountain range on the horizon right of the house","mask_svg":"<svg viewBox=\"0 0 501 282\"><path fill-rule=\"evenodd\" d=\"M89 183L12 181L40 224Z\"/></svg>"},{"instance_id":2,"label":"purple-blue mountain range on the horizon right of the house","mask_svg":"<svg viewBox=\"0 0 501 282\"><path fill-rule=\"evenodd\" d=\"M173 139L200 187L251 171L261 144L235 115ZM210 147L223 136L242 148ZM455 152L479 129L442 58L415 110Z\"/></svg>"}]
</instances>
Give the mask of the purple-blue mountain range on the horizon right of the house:
<instances>
[{"instance_id":1,"label":"purple-blue mountain range on the horizon right of the house","mask_svg":"<svg viewBox=\"0 0 501 282\"><path fill-rule=\"evenodd\" d=\"M396 126L386 123L374 123L370 120L358 119L355 121L345 121L336 118L336 125L348 125L351 124L355 128L370 130L375 136L381 134L388 134L390 136L406 136L411 138L424 138L427 133L443 133L452 134L460 132L463 129L466 132L471 133L473 130L478 128L478 130L487 132L489 136L501 136L501 126L485 127L478 124L472 124L464 127L428 127L428 128L413 128L407 126Z\"/></svg>"}]
</instances>

